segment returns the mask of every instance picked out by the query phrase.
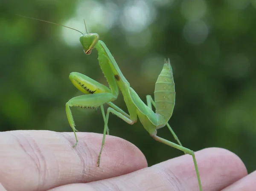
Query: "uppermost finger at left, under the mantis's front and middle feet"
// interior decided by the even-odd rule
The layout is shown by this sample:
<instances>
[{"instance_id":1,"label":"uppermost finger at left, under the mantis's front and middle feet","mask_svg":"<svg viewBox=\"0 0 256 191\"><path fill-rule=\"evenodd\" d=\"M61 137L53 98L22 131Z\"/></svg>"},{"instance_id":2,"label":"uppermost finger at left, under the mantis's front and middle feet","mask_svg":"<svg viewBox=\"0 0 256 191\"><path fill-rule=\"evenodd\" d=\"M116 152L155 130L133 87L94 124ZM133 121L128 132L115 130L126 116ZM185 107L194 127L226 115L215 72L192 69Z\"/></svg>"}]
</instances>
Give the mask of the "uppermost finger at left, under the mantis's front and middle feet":
<instances>
[{"instance_id":1,"label":"uppermost finger at left, under the mantis's front and middle feet","mask_svg":"<svg viewBox=\"0 0 256 191\"><path fill-rule=\"evenodd\" d=\"M0 133L0 182L8 191L47 190L59 185L92 182L145 168L142 152L119 137L106 136L98 168L102 134L54 131Z\"/></svg>"}]
</instances>

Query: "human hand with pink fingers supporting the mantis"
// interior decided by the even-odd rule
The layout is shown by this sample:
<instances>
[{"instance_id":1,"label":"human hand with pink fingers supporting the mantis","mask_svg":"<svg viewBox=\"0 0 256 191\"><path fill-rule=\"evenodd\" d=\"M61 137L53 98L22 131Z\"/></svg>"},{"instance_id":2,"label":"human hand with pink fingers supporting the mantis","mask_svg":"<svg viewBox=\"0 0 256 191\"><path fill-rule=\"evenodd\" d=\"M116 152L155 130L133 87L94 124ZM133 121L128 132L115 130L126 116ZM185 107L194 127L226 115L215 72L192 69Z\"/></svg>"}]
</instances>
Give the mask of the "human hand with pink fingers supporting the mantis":
<instances>
[{"instance_id":1,"label":"human hand with pink fingers supporting the mantis","mask_svg":"<svg viewBox=\"0 0 256 191\"><path fill-rule=\"evenodd\" d=\"M71 148L73 133L1 132L0 191L199 191L188 154L147 167L136 146L106 136L98 168L102 134L77 135L79 144ZM256 173L246 176L230 151L207 148L195 156L204 191L255 190Z\"/></svg>"}]
</instances>

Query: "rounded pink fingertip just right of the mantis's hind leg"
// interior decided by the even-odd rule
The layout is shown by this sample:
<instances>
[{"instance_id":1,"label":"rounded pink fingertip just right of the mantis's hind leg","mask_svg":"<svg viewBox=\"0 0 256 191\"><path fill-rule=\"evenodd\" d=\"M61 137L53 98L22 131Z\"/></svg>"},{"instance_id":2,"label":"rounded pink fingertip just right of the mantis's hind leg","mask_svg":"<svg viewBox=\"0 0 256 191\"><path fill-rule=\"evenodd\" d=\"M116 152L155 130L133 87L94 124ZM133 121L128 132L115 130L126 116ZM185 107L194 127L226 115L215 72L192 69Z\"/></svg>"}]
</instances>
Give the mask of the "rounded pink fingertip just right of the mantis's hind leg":
<instances>
[{"instance_id":1,"label":"rounded pink fingertip just right of the mantis's hind leg","mask_svg":"<svg viewBox=\"0 0 256 191\"><path fill-rule=\"evenodd\" d=\"M196 155L200 157L198 168L203 185L208 187L218 185L218 189L221 190L247 175L244 162L227 149L205 148Z\"/></svg>"}]
</instances>

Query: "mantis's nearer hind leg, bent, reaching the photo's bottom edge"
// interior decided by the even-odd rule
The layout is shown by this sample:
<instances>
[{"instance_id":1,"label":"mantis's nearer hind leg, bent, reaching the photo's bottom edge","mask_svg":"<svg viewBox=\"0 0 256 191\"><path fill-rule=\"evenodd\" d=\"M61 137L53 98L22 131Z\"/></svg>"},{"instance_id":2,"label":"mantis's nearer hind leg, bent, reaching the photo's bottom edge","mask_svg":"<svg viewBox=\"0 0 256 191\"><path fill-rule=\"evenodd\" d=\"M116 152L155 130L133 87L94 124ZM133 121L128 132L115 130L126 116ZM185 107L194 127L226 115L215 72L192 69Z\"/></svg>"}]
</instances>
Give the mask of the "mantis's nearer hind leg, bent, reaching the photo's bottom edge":
<instances>
[{"instance_id":1,"label":"mantis's nearer hind leg, bent, reaching the photo's bottom edge","mask_svg":"<svg viewBox=\"0 0 256 191\"><path fill-rule=\"evenodd\" d=\"M190 150L186 147L183 147L183 146L177 145L175 143L172 143L171 141L168 141L168 140L163 139L161 137L158 137L157 135L151 135L151 137L153 137L154 140L157 140L160 143L164 143L164 144L169 145L173 148L177 148L180 151L183 151L184 153L190 154L193 157L193 161L194 161L194 165L195 165L195 171L196 171L196 175L197 175L197 178L198 178L199 189L200 189L200 191L203 191L202 185L201 185L200 174L199 174L199 171L198 171L198 165L197 165L197 162L196 162L196 159L195 159L194 151L192 151L192 150Z\"/></svg>"}]
</instances>

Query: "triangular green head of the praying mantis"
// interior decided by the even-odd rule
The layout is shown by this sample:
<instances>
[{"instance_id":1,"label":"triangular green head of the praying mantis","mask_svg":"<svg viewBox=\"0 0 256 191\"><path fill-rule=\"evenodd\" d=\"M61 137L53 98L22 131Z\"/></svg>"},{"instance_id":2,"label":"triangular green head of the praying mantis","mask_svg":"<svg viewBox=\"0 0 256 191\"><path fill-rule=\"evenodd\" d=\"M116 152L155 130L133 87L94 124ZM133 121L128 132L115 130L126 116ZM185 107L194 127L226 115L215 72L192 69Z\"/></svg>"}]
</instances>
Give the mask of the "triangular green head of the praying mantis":
<instances>
[{"instance_id":1,"label":"triangular green head of the praying mantis","mask_svg":"<svg viewBox=\"0 0 256 191\"><path fill-rule=\"evenodd\" d=\"M94 46L99 41L99 34L96 33L89 33L89 34L83 34L80 37L80 43L84 47L84 53L90 54Z\"/></svg>"}]
</instances>

